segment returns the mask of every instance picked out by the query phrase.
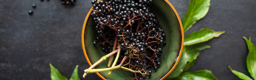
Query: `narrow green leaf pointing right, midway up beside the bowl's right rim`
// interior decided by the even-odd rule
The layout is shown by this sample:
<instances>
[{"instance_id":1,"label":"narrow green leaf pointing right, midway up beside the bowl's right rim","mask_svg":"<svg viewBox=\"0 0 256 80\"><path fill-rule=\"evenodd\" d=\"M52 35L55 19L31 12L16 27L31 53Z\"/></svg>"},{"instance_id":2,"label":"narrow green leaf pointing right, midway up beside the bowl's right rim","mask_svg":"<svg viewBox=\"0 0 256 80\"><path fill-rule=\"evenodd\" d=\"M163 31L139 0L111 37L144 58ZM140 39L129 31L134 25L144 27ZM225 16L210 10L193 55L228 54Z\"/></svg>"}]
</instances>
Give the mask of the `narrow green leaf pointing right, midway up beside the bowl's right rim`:
<instances>
[{"instance_id":1,"label":"narrow green leaf pointing right, midway up beside the bowl's right rim","mask_svg":"<svg viewBox=\"0 0 256 80\"><path fill-rule=\"evenodd\" d=\"M208 28L203 28L198 32L192 32L188 36L184 38L184 45L193 45L201 42L208 41L213 37L219 37L221 34L225 33L225 31L215 32Z\"/></svg>"}]
</instances>

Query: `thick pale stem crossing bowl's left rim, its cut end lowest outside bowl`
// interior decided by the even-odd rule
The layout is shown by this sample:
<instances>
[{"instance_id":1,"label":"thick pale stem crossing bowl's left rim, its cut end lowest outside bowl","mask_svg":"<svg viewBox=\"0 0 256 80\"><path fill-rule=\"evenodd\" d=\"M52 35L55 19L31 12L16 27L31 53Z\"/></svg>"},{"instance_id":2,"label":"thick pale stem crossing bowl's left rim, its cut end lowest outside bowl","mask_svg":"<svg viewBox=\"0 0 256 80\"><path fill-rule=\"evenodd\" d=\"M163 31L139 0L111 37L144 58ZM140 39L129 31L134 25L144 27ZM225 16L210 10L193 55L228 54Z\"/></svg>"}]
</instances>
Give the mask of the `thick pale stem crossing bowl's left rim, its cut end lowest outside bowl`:
<instances>
[{"instance_id":1,"label":"thick pale stem crossing bowl's left rim, its cut end lowest outside bowl","mask_svg":"<svg viewBox=\"0 0 256 80\"><path fill-rule=\"evenodd\" d=\"M98 64L100 64L101 62L105 61L108 57L110 57L111 55L117 53L118 50L115 50L103 57L100 58L100 60L98 60L96 63L94 63L91 67L89 67L88 69L93 69L94 67L96 67ZM84 73L83 78L85 78L85 76L87 75L87 73Z\"/></svg>"}]
</instances>

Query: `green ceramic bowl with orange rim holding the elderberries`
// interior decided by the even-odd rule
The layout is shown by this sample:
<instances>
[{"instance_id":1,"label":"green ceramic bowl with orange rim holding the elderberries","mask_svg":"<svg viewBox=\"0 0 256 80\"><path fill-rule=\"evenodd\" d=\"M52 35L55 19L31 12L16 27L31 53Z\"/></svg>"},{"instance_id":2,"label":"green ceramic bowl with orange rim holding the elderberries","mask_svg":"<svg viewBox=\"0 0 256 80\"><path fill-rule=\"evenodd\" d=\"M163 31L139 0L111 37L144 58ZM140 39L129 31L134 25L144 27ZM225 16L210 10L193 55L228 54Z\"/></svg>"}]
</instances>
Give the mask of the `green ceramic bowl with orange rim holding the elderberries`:
<instances>
[{"instance_id":1,"label":"green ceramic bowl with orange rim holding the elderberries","mask_svg":"<svg viewBox=\"0 0 256 80\"><path fill-rule=\"evenodd\" d=\"M182 53L184 34L180 18L167 0L154 0L151 4L151 12L154 13L159 24L163 27L166 34L166 45L162 48L161 66L158 70L152 70L152 77L147 80L162 80L167 77L174 67L177 65ZM84 55L89 65L91 66L97 62L102 56L106 55L101 50L101 46L93 46L95 40L95 24L90 16L92 10L89 11L84 22L82 31L82 46ZM100 63L96 69L107 68L108 59ZM88 74L87 76L89 76ZM104 80L131 80L134 78L134 73L123 71L120 69L113 70L109 76L106 72L97 73ZM131 77L131 78L130 78Z\"/></svg>"}]
</instances>

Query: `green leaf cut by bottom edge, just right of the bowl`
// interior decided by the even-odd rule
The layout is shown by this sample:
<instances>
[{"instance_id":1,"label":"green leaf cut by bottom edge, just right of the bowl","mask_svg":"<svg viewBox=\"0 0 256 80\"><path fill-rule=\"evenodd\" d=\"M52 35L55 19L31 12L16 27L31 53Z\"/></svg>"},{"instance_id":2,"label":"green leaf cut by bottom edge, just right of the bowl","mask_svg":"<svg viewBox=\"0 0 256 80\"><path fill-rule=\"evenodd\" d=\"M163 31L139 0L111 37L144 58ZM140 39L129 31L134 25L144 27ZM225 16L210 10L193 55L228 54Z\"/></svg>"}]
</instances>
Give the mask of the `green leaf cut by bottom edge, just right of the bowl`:
<instances>
[{"instance_id":1,"label":"green leaf cut by bottom edge, just right of the bowl","mask_svg":"<svg viewBox=\"0 0 256 80\"><path fill-rule=\"evenodd\" d=\"M209 70L189 71L182 73L173 80L218 80Z\"/></svg>"}]
</instances>

